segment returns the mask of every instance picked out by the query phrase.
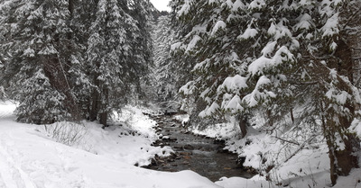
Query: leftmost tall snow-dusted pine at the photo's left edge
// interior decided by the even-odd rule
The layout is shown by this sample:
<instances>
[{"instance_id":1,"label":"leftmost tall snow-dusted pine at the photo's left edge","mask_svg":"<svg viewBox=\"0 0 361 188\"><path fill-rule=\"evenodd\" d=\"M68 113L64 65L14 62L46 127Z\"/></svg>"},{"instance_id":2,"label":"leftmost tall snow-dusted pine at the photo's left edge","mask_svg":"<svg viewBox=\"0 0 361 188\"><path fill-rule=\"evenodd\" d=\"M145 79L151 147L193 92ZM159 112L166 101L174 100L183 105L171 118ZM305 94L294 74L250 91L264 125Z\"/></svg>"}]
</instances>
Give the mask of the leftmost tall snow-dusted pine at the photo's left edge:
<instances>
[{"instance_id":1,"label":"leftmost tall snow-dusted pine at the photo's left edge","mask_svg":"<svg viewBox=\"0 0 361 188\"><path fill-rule=\"evenodd\" d=\"M21 100L20 103L23 103L21 105L31 105L29 101L23 100L26 93L17 91L29 86L26 82L28 79L36 80L39 76L38 71L42 69L43 75L50 83L46 87L51 86L51 89L60 93L49 96L51 100L53 101L55 96L63 95L58 99L65 106L63 113L69 115L67 119L76 119L78 116L74 110L77 109L74 106L76 99L71 94L67 67L65 67L70 57L67 49L71 45L68 40L71 32L68 24L68 1L12 1L6 6L9 9L2 22L3 27L9 32L5 36L2 48L6 48L9 59L5 62L4 80L8 83L13 96ZM39 100L42 100L42 103L51 103L50 99ZM25 114L29 114L23 110L18 112L18 116L22 117L20 119L23 119ZM60 113L56 112L56 114ZM60 121L62 118L65 117L34 121L43 123ZM32 117L27 119L30 120Z\"/></svg>"}]
</instances>

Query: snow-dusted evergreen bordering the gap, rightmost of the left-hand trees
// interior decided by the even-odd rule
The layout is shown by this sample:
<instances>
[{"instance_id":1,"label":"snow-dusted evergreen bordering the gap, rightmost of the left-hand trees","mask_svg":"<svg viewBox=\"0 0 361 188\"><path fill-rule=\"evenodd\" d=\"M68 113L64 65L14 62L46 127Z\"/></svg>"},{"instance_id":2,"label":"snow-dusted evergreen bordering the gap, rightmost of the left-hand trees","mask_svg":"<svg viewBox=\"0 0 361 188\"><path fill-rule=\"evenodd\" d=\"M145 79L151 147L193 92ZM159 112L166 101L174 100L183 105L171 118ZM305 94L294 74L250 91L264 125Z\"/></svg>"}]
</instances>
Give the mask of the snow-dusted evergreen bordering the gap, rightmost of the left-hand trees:
<instances>
[{"instance_id":1,"label":"snow-dusted evergreen bordering the gap, rightmost of the left-hand trees","mask_svg":"<svg viewBox=\"0 0 361 188\"><path fill-rule=\"evenodd\" d=\"M128 103L132 93L140 93L140 79L150 62L151 40L147 28L149 12L144 12L143 1L138 3L126 6L116 0L97 3L87 47L93 87L91 121L99 118L106 125L108 112Z\"/></svg>"}]
</instances>

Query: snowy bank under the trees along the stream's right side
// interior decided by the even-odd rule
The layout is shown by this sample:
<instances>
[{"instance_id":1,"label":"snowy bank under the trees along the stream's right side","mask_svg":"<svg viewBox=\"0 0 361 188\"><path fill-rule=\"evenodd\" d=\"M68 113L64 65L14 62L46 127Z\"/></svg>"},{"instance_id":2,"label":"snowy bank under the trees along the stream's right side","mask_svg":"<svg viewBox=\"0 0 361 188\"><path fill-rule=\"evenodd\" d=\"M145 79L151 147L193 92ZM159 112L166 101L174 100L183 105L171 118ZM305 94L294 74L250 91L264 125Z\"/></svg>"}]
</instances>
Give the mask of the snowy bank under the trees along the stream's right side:
<instances>
[{"instance_id":1,"label":"snowy bank under the trees along the stream's right side","mask_svg":"<svg viewBox=\"0 0 361 188\"><path fill-rule=\"evenodd\" d=\"M176 119L188 121L185 115ZM360 129L360 126L355 126L355 129ZM290 146L275 136L265 134L264 130L255 126L249 128L245 139L239 139L241 130L234 120L209 126L205 130L190 128L190 131L226 140L226 149L238 153L240 157L245 157L244 166L262 170L265 163L274 164L268 172L272 182L265 181L264 176L255 175L250 180L240 177L222 178L218 185L232 188L330 187L328 148L321 136L317 138L319 139L317 147ZM338 184L333 187L361 188L361 169L354 169L348 176L338 177Z\"/></svg>"}]
</instances>

